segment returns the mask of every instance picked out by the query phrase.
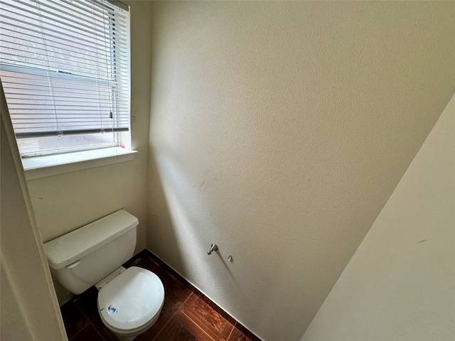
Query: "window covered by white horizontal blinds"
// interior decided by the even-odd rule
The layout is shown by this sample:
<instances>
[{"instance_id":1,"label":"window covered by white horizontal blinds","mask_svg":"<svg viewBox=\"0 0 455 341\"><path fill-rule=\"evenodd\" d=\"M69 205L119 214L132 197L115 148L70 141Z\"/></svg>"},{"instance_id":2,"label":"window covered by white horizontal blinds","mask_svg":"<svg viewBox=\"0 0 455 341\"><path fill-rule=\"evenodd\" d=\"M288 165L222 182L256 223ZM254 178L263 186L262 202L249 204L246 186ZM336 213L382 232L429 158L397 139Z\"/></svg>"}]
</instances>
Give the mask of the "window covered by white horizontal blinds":
<instances>
[{"instance_id":1,"label":"window covered by white horizontal blinds","mask_svg":"<svg viewBox=\"0 0 455 341\"><path fill-rule=\"evenodd\" d=\"M128 7L0 0L0 80L23 157L129 144Z\"/></svg>"}]
</instances>

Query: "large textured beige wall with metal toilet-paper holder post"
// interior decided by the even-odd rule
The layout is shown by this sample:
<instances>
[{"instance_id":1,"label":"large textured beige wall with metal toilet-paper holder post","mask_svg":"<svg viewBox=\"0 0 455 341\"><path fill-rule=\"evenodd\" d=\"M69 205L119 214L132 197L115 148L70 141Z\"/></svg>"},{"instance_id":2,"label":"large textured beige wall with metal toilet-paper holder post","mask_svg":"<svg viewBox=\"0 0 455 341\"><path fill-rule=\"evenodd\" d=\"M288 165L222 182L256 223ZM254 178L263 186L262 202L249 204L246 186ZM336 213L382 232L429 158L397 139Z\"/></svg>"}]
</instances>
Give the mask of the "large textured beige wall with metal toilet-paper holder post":
<instances>
[{"instance_id":1,"label":"large textured beige wall with metal toilet-paper holder post","mask_svg":"<svg viewBox=\"0 0 455 341\"><path fill-rule=\"evenodd\" d=\"M454 93L455 3L153 6L146 245L300 340Z\"/></svg>"}]
</instances>

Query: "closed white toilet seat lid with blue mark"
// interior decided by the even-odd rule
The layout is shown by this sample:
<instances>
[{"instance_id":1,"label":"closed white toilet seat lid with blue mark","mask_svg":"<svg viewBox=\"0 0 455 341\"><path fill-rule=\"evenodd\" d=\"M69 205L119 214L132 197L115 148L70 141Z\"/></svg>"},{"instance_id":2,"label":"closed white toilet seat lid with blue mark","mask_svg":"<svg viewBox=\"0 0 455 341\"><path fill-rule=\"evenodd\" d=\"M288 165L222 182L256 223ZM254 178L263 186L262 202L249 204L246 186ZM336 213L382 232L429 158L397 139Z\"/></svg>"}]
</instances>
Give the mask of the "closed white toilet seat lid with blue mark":
<instances>
[{"instance_id":1,"label":"closed white toilet seat lid with blue mark","mask_svg":"<svg viewBox=\"0 0 455 341\"><path fill-rule=\"evenodd\" d=\"M98 293L98 310L108 325L133 330L155 317L164 303L164 286L153 272L132 266Z\"/></svg>"}]
</instances>

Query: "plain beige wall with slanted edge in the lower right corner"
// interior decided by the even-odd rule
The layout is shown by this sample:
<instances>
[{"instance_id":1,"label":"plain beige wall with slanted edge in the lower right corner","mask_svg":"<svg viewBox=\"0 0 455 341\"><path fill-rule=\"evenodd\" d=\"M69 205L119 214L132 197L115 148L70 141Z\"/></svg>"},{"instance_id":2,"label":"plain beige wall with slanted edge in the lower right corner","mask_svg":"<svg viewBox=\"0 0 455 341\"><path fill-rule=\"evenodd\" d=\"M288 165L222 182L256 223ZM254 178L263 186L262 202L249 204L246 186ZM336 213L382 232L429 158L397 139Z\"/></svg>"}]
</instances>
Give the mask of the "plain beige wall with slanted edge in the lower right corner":
<instances>
[{"instance_id":1,"label":"plain beige wall with slanted edge in the lower right corner","mask_svg":"<svg viewBox=\"0 0 455 341\"><path fill-rule=\"evenodd\" d=\"M455 95L302 341L455 340Z\"/></svg>"}]
</instances>

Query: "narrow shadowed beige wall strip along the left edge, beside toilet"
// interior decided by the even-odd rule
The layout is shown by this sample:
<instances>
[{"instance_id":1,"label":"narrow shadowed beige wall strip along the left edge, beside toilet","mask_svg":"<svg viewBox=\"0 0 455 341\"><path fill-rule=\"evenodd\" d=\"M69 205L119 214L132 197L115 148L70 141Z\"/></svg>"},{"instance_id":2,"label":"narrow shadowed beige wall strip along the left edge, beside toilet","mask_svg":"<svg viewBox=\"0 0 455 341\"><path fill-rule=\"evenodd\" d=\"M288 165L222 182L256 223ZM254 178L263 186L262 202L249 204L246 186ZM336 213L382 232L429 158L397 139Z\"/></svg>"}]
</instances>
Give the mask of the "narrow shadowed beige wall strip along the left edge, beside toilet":
<instances>
[{"instance_id":1,"label":"narrow shadowed beige wall strip along the left edge, beside toilet","mask_svg":"<svg viewBox=\"0 0 455 341\"><path fill-rule=\"evenodd\" d=\"M3 90L0 92L0 339L68 340L33 217Z\"/></svg>"}]
</instances>

